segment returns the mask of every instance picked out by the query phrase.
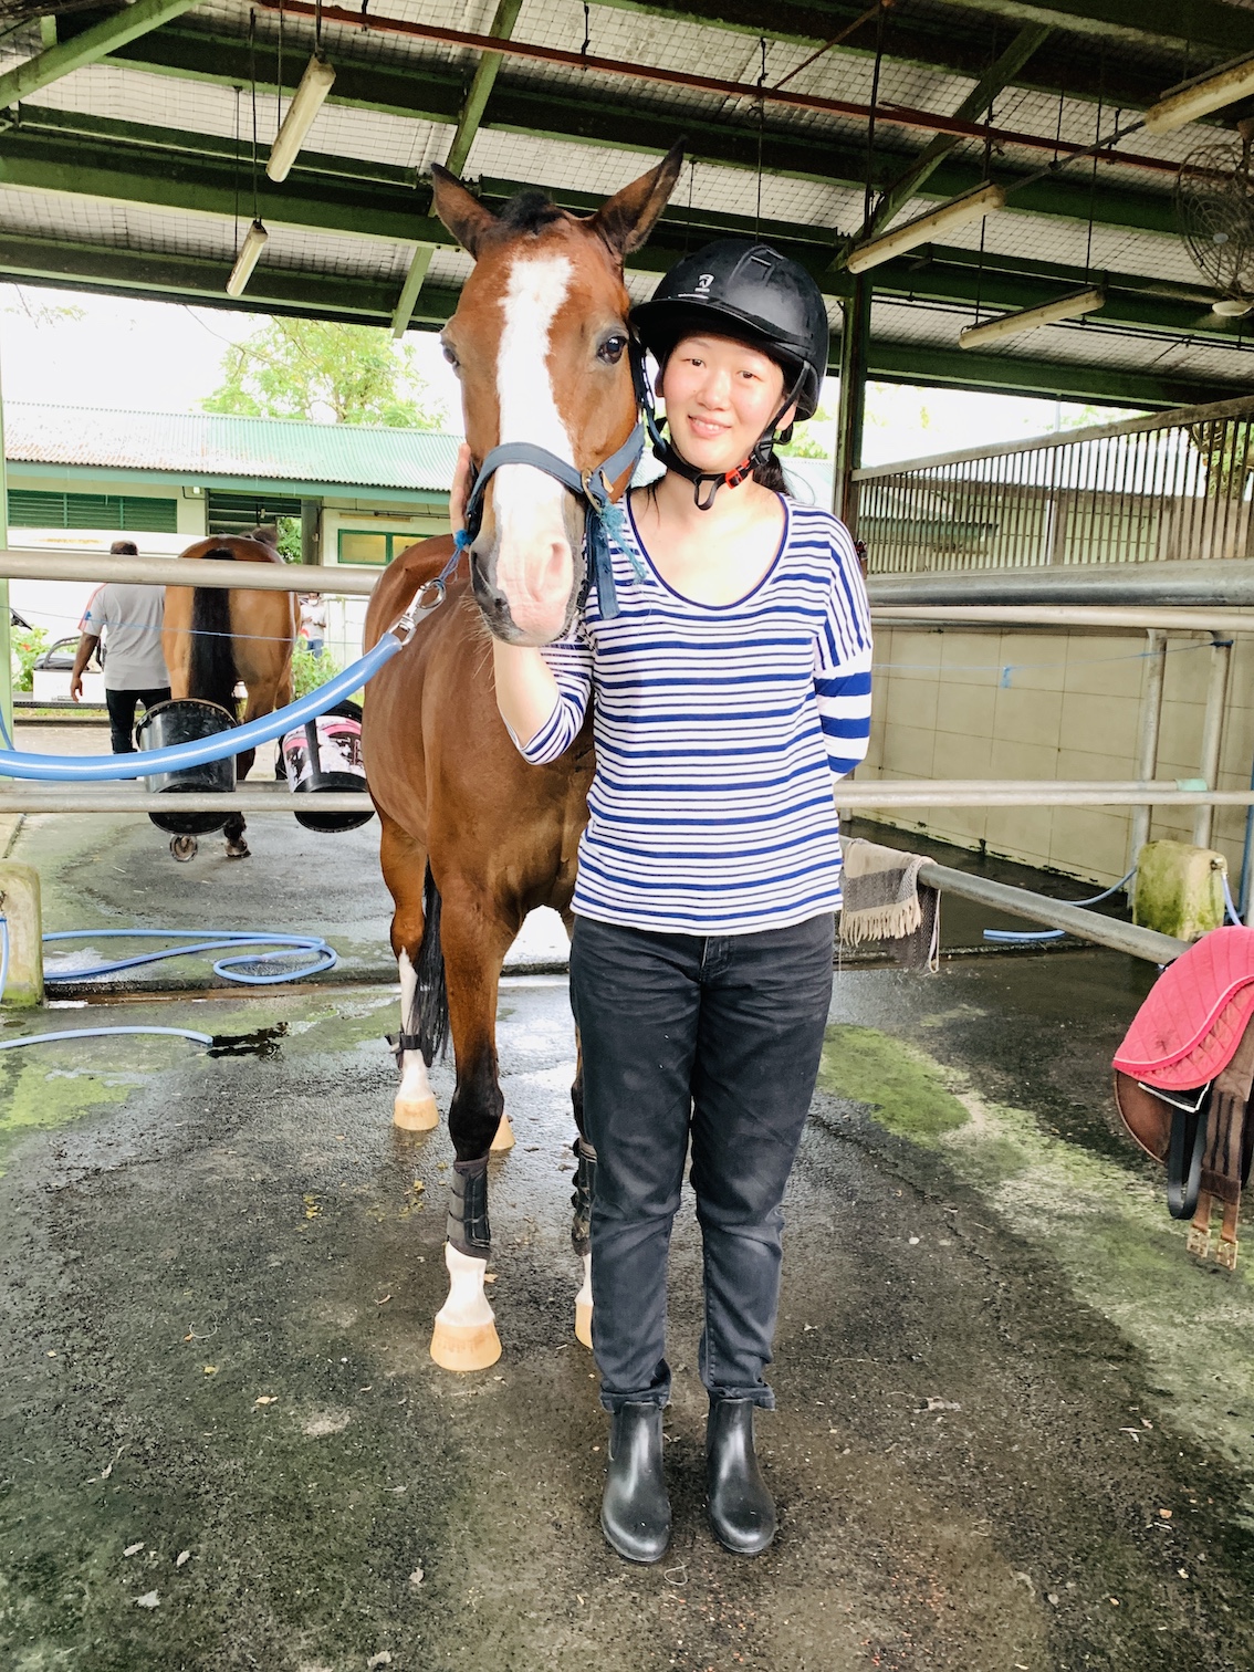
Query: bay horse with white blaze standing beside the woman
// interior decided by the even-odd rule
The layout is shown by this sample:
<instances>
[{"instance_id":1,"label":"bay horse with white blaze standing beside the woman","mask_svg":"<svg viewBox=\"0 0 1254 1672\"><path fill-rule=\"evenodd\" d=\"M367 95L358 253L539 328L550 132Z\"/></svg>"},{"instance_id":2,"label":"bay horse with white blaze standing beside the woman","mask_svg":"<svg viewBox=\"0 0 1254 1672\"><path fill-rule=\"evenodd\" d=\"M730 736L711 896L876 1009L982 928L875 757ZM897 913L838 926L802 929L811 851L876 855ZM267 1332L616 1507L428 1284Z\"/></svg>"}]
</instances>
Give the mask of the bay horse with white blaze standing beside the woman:
<instances>
[{"instance_id":1,"label":"bay horse with white blaze standing beside the woman","mask_svg":"<svg viewBox=\"0 0 1254 1672\"><path fill-rule=\"evenodd\" d=\"M472 458L483 460L500 443L538 441L582 473L630 436L637 403L622 263L665 207L681 161L675 147L587 219L535 191L520 192L495 216L455 176L433 169L435 211L475 257L443 338L461 380ZM629 477L630 468L612 485L615 497ZM453 550L448 537L423 540L391 563L370 602L366 649ZM527 629L517 620L503 625L500 594L485 575L508 568L517 587L532 565L562 592L562 607ZM456 1065L448 1110L456 1155L445 1246L450 1296L431 1336L431 1358L446 1369L482 1369L500 1356L483 1289L492 1247L488 1150L513 1142L497 1073L498 981L535 906L553 906L570 928L594 767L590 724L560 761L523 761L497 712L488 627L513 639L530 630L533 644L557 637L575 614L585 565L575 495L533 465L503 465L483 495L470 584L451 580L445 605L366 686L366 777L380 816L401 978L396 1125L436 1124L426 1068L448 1028ZM575 1323L590 1346L587 1216L595 1157L582 1137L579 1077L572 1102L580 1132L572 1241L584 1259Z\"/></svg>"}]
</instances>

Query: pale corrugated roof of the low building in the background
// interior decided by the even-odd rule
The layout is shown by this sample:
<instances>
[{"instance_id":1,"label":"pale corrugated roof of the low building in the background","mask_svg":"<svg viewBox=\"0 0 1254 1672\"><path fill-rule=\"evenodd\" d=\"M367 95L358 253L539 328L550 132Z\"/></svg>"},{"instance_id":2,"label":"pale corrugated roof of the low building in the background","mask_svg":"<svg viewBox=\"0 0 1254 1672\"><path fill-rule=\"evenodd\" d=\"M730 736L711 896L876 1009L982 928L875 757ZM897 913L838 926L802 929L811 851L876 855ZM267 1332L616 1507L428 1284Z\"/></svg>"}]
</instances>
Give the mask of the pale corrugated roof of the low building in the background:
<instances>
[{"instance_id":1,"label":"pale corrugated roof of the low building in the background","mask_svg":"<svg viewBox=\"0 0 1254 1672\"><path fill-rule=\"evenodd\" d=\"M458 443L436 430L5 403L10 463L448 492Z\"/></svg>"}]
</instances>

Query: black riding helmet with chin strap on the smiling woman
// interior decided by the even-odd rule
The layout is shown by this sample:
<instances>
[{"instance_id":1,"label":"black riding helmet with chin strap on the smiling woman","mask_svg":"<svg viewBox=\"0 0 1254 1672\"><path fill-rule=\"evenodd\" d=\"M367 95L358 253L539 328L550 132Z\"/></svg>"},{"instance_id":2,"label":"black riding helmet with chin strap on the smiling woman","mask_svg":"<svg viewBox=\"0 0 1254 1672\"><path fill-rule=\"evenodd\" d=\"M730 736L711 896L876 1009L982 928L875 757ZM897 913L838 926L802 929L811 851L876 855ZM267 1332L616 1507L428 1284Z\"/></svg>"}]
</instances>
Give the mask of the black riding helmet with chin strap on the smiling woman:
<instances>
[{"instance_id":1,"label":"black riding helmet with chin strap on the smiling woman","mask_svg":"<svg viewBox=\"0 0 1254 1672\"><path fill-rule=\"evenodd\" d=\"M744 482L754 465L766 463L779 420L796 403L798 418L811 418L819 405L828 368L828 309L823 294L796 261L769 244L721 237L706 244L662 278L647 303L630 314L640 344L665 364L675 343L699 331L731 336L769 354L784 371L784 401L739 470L697 472L675 451L652 421L652 401L644 388L654 435L654 456L696 485L697 505L709 510L719 487ZM644 378L640 380L644 383ZM702 483L709 493L702 498Z\"/></svg>"}]
</instances>

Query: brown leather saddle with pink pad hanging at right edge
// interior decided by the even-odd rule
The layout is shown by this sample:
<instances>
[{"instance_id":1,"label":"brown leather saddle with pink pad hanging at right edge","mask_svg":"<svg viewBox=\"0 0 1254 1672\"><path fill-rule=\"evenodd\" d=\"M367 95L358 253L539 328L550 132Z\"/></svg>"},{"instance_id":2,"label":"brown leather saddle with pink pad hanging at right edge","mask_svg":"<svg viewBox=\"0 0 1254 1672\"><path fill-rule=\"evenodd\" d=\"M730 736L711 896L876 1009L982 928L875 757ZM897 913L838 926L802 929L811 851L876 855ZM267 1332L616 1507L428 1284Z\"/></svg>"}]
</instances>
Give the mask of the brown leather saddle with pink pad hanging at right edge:
<instances>
[{"instance_id":1,"label":"brown leather saddle with pink pad hanging at right edge","mask_svg":"<svg viewBox=\"0 0 1254 1672\"><path fill-rule=\"evenodd\" d=\"M1237 1262L1241 1189L1254 1152L1254 930L1204 935L1154 983L1115 1053L1115 1104L1134 1140L1167 1167L1167 1207L1192 1219L1189 1252Z\"/></svg>"}]
</instances>

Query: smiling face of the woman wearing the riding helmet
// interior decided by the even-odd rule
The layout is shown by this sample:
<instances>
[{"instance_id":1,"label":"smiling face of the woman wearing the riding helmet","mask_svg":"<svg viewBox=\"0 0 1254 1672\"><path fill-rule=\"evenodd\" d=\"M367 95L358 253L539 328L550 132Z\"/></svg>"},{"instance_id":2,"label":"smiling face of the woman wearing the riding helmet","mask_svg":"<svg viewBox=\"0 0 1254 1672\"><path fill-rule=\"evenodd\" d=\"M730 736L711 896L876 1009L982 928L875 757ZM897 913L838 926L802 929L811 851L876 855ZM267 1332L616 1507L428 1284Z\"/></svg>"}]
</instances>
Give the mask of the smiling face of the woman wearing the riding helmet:
<instances>
[{"instance_id":1,"label":"smiling face of the woman wearing the riding helmet","mask_svg":"<svg viewBox=\"0 0 1254 1672\"><path fill-rule=\"evenodd\" d=\"M779 411L784 373L769 354L729 336L686 336L659 393L675 448L697 470L736 470ZM789 423L784 413L781 428Z\"/></svg>"}]
</instances>

